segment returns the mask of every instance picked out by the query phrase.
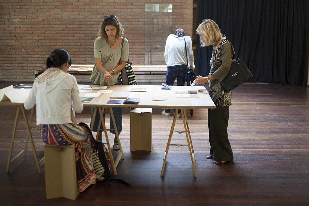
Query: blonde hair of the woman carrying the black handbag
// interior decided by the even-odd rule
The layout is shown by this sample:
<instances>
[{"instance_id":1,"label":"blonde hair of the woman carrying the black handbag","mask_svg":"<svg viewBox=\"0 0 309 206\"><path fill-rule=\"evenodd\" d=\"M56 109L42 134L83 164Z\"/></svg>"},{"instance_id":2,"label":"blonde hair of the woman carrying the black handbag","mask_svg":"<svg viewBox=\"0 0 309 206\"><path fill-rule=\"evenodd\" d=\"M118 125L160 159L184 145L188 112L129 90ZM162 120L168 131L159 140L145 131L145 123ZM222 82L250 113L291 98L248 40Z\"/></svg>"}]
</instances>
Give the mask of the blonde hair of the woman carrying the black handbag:
<instances>
[{"instance_id":1,"label":"blonde hair of the woman carrying the black handbag","mask_svg":"<svg viewBox=\"0 0 309 206\"><path fill-rule=\"evenodd\" d=\"M203 39L205 42L201 40L201 47L216 44L222 38L222 34L218 25L216 22L214 22L214 20L211 19L204 19L200 25L198 25L196 33L204 36Z\"/></svg>"}]
</instances>

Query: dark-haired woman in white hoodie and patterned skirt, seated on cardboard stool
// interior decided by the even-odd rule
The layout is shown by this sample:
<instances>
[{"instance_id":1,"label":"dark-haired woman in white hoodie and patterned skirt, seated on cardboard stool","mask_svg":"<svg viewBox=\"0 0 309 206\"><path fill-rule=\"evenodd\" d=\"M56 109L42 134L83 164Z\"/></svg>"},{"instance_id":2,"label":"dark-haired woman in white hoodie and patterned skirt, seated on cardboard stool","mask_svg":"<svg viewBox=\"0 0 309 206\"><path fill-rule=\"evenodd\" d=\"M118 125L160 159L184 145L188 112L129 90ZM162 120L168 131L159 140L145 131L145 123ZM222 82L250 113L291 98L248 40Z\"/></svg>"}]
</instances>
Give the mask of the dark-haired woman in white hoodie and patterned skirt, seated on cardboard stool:
<instances>
[{"instance_id":1,"label":"dark-haired woman in white hoodie and patterned skirt, seated on cardboard stool","mask_svg":"<svg viewBox=\"0 0 309 206\"><path fill-rule=\"evenodd\" d=\"M86 127L71 119L71 107L80 113L83 103L76 78L67 73L70 65L69 54L55 49L46 60L48 69L35 78L24 107L29 110L36 103L36 124L46 144L75 145L78 188L84 191L96 181L91 157L94 141Z\"/></svg>"}]
</instances>

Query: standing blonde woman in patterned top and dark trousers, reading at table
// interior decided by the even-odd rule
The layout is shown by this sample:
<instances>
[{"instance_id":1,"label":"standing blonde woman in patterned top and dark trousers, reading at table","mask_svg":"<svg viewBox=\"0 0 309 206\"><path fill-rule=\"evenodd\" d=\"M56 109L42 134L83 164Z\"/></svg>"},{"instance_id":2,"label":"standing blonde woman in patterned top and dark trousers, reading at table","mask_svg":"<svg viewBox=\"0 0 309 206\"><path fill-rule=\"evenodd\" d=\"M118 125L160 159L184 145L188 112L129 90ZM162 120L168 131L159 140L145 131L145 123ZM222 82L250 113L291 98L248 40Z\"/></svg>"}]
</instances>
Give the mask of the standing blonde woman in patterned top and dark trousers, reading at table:
<instances>
[{"instance_id":1,"label":"standing blonde woman in patterned top and dark trousers, reading at table","mask_svg":"<svg viewBox=\"0 0 309 206\"><path fill-rule=\"evenodd\" d=\"M209 83L209 95L216 108L208 109L208 130L210 155L207 159L214 159L214 164L221 165L233 162L233 152L227 134L229 108L233 91L224 92L221 81L226 77L234 58L229 41L221 34L218 25L211 19L203 20L197 27L201 46L213 45L210 60L210 73L206 77L197 76L195 84Z\"/></svg>"}]
</instances>

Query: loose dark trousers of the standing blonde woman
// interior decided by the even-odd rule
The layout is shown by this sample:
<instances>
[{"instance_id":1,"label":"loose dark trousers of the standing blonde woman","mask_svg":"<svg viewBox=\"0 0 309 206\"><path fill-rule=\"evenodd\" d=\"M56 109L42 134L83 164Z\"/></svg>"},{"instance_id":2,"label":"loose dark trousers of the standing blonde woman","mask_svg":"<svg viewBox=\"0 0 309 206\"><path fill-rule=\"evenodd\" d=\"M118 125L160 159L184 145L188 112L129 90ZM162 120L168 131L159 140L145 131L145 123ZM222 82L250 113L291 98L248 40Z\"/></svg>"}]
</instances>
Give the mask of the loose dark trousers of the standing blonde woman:
<instances>
[{"instance_id":1,"label":"loose dark trousers of the standing blonde woman","mask_svg":"<svg viewBox=\"0 0 309 206\"><path fill-rule=\"evenodd\" d=\"M229 111L229 106L216 106L215 109L208 109L210 155L214 157L216 162L229 161L234 158L227 134Z\"/></svg>"}]
</instances>

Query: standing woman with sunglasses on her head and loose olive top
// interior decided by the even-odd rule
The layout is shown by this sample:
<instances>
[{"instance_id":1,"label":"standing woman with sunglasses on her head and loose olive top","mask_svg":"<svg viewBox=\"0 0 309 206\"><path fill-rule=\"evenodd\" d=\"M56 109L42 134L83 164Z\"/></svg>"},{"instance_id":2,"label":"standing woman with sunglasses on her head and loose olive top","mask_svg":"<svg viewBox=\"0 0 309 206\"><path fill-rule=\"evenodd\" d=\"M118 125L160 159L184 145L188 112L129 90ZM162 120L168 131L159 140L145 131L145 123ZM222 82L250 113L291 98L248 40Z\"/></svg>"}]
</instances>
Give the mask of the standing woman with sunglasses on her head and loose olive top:
<instances>
[{"instance_id":1,"label":"standing woman with sunglasses on her head and loose olive top","mask_svg":"<svg viewBox=\"0 0 309 206\"><path fill-rule=\"evenodd\" d=\"M91 74L91 82L94 85L112 86L120 85L118 79L120 71L125 67L129 59L129 42L122 37L124 29L115 15L107 15L103 17L101 26L99 27L98 38L94 42L94 57L95 65ZM121 46L122 39L123 45ZM104 75L105 74L105 75ZM110 75L110 77L106 76ZM122 108L112 108L118 135L122 130ZM94 108L91 108L91 122L94 113ZM105 109L103 112L105 122ZM100 120L99 111L95 115L93 132L98 131ZM102 140L103 126L100 125L98 139ZM114 124L110 116L110 131L115 134L113 149L120 149L116 138Z\"/></svg>"}]
</instances>

